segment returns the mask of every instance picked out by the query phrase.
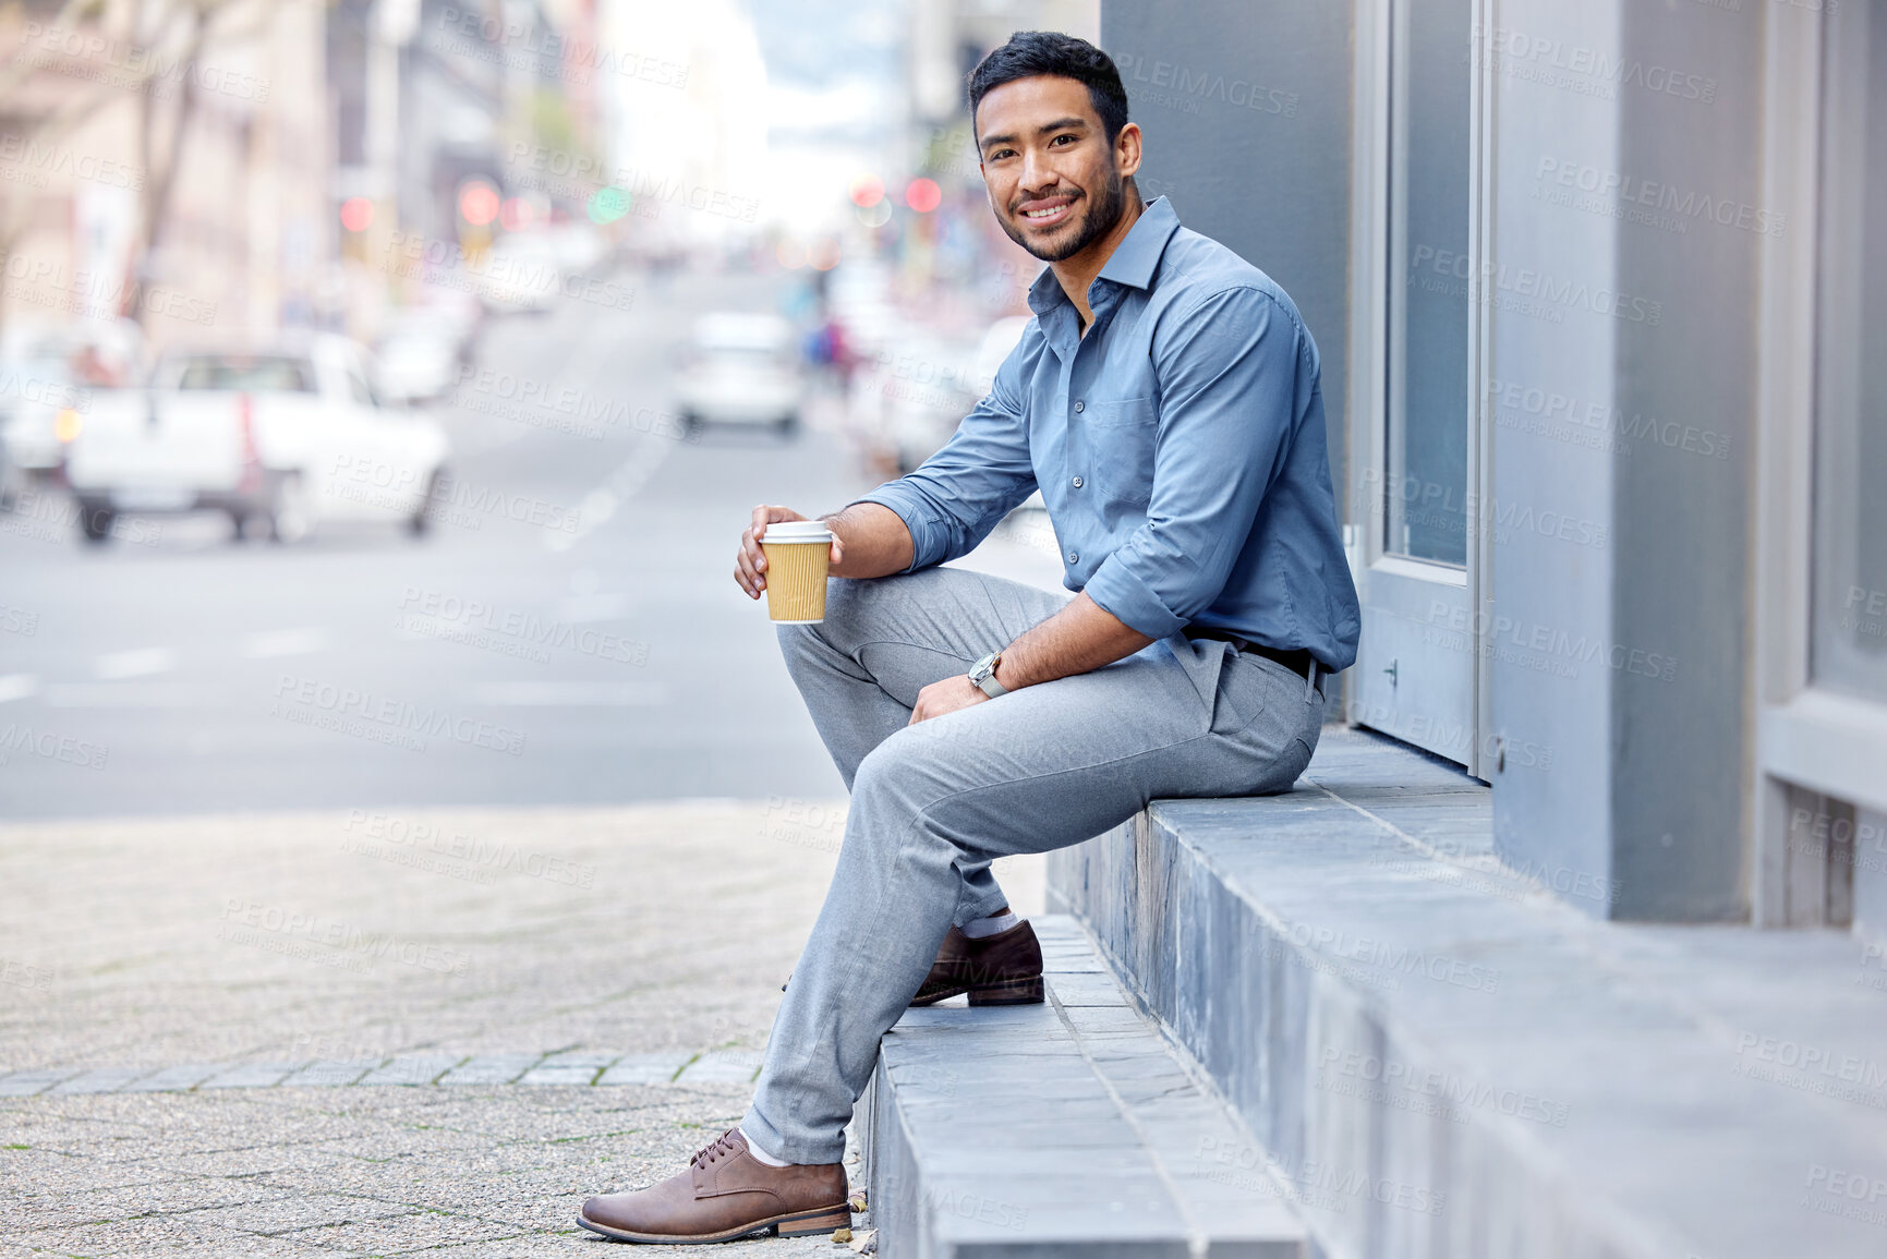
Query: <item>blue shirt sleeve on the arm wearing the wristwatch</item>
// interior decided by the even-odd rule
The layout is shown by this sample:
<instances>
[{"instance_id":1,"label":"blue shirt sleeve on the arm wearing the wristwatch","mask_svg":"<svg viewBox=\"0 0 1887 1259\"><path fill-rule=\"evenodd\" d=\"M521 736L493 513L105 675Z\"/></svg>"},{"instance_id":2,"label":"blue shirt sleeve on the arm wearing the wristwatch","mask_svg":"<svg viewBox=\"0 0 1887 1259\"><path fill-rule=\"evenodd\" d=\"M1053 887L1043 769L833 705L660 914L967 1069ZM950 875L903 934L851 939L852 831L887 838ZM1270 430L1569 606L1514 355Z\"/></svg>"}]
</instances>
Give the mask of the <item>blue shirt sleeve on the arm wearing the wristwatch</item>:
<instances>
[{"instance_id":1,"label":"blue shirt sleeve on the arm wearing the wristwatch","mask_svg":"<svg viewBox=\"0 0 1887 1259\"><path fill-rule=\"evenodd\" d=\"M1127 627L1177 634L1225 589L1289 449L1300 349L1296 321L1251 287L1202 298L1155 336L1147 521L1085 587Z\"/></svg>"}]
</instances>

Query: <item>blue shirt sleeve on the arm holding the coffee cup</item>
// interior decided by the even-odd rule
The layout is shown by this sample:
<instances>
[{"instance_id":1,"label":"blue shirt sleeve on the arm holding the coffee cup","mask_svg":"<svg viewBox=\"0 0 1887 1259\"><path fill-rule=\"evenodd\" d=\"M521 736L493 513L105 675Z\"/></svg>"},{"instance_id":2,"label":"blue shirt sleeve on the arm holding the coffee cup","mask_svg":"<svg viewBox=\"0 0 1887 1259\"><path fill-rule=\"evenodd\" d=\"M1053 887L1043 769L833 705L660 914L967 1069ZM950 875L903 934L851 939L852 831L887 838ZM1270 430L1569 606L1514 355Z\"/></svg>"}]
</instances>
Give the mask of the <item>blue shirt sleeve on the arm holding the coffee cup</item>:
<instances>
[{"instance_id":1,"label":"blue shirt sleeve on the arm holding the coffee cup","mask_svg":"<svg viewBox=\"0 0 1887 1259\"><path fill-rule=\"evenodd\" d=\"M853 500L891 508L911 530L906 572L968 555L1034 493L1021 359L1023 345L1017 345L996 370L989 394L964 415L944 449L917 470Z\"/></svg>"}]
</instances>

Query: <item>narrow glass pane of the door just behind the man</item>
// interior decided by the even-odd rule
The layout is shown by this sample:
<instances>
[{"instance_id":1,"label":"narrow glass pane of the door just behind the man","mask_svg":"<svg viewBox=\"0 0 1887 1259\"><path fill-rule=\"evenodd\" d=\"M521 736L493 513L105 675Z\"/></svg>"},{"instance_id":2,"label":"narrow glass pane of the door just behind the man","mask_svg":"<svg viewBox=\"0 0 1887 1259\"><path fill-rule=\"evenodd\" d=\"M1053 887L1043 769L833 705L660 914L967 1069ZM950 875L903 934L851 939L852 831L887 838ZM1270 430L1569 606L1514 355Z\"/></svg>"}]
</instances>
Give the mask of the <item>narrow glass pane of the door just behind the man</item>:
<instances>
[{"instance_id":1,"label":"narrow glass pane of the door just behind the man","mask_svg":"<svg viewBox=\"0 0 1887 1259\"><path fill-rule=\"evenodd\" d=\"M1468 562L1472 0L1396 6L1383 549Z\"/></svg>"}]
</instances>

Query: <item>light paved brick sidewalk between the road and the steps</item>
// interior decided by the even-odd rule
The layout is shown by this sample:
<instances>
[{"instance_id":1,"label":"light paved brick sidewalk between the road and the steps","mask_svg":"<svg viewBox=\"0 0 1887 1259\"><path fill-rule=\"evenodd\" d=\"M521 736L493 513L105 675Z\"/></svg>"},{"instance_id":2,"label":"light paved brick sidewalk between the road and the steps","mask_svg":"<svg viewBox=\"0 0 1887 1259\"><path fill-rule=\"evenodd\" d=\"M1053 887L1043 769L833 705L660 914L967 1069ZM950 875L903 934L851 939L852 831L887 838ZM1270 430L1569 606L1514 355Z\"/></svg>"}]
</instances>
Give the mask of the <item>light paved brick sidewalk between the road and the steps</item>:
<instances>
[{"instance_id":1,"label":"light paved brick sidewalk between the road and the steps","mask_svg":"<svg viewBox=\"0 0 1887 1259\"><path fill-rule=\"evenodd\" d=\"M738 1121L832 800L0 827L0 1255L568 1255ZM1040 902L1040 863L1006 883ZM827 1238L770 1255L849 1253ZM638 1251L640 1253L640 1251Z\"/></svg>"}]
</instances>

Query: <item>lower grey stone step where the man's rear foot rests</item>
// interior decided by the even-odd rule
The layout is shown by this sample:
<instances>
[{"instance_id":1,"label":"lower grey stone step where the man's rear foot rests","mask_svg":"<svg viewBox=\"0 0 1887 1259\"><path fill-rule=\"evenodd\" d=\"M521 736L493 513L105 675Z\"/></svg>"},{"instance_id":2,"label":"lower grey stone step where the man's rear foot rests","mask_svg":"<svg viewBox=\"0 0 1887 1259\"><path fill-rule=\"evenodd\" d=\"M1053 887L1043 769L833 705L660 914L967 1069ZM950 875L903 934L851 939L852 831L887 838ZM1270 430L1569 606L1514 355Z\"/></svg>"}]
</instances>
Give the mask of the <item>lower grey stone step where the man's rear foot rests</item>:
<instances>
[{"instance_id":1,"label":"lower grey stone step where the man's rear foot rests","mask_svg":"<svg viewBox=\"0 0 1887 1259\"><path fill-rule=\"evenodd\" d=\"M1302 1259L1234 1116L1066 915L1034 919L1047 1002L908 1012L860 1100L877 1253Z\"/></svg>"}]
</instances>

